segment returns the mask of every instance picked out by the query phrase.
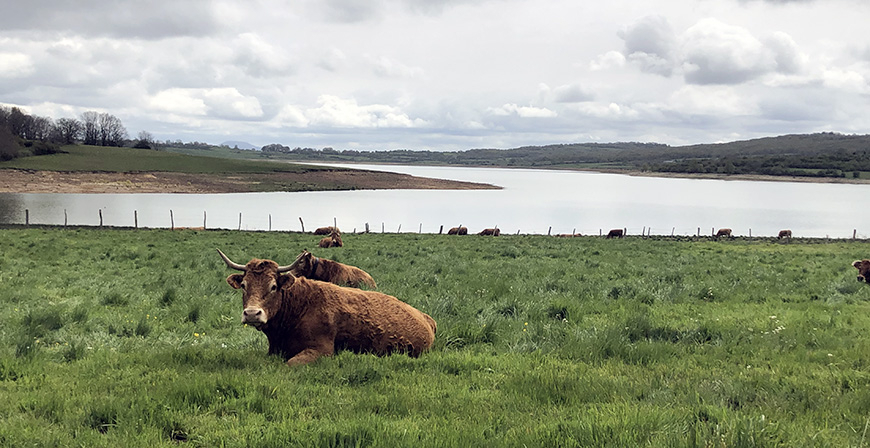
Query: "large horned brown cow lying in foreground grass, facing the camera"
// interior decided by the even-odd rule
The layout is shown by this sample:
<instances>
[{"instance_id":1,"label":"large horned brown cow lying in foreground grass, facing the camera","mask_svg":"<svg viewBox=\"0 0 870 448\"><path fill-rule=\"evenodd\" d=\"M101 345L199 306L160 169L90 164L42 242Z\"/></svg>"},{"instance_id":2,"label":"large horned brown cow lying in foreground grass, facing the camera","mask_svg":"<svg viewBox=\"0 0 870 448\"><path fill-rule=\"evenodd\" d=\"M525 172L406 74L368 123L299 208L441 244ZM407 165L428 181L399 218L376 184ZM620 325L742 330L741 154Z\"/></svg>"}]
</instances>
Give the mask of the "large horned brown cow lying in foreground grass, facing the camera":
<instances>
[{"instance_id":1,"label":"large horned brown cow lying in foreground grass, facing the camera","mask_svg":"<svg viewBox=\"0 0 870 448\"><path fill-rule=\"evenodd\" d=\"M218 249L227 277L242 289L242 323L266 335L270 355L288 366L308 364L337 350L419 357L432 346L436 324L428 314L377 291L294 277L290 266L254 258L242 265Z\"/></svg>"}]
</instances>

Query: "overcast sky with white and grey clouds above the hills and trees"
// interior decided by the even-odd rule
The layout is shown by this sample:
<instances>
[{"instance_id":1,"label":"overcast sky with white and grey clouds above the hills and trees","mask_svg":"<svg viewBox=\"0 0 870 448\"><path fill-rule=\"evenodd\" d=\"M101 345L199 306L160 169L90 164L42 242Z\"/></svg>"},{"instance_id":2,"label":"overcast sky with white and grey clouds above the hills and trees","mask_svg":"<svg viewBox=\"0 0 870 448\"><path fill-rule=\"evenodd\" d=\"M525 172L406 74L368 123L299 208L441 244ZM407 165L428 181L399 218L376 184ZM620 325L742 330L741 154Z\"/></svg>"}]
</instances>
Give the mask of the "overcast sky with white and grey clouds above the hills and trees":
<instances>
[{"instance_id":1,"label":"overcast sky with white and grey clouds above the hills and trees","mask_svg":"<svg viewBox=\"0 0 870 448\"><path fill-rule=\"evenodd\" d=\"M867 0L0 0L0 103L336 149L870 133Z\"/></svg>"}]
</instances>

